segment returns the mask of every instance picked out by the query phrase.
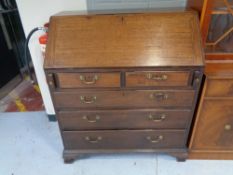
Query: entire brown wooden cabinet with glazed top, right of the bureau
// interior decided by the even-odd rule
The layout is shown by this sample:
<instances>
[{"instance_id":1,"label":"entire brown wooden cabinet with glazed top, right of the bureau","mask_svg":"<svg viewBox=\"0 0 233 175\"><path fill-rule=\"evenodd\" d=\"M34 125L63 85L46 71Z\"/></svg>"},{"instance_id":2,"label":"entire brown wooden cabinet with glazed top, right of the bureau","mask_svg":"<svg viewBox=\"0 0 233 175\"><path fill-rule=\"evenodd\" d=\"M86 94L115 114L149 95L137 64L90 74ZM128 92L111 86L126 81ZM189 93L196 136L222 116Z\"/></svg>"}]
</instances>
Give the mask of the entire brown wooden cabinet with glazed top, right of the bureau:
<instances>
[{"instance_id":1,"label":"entire brown wooden cabinet with glazed top, right of the bureau","mask_svg":"<svg viewBox=\"0 0 233 175\"><path fill-rule=\"evenodd\" d=\"M189 158L233 159L233 1L202 2L200 25L206 51L206 79ZM189 5L198 6L195 3L190 1Z\"/></svg>"}]
</instances>

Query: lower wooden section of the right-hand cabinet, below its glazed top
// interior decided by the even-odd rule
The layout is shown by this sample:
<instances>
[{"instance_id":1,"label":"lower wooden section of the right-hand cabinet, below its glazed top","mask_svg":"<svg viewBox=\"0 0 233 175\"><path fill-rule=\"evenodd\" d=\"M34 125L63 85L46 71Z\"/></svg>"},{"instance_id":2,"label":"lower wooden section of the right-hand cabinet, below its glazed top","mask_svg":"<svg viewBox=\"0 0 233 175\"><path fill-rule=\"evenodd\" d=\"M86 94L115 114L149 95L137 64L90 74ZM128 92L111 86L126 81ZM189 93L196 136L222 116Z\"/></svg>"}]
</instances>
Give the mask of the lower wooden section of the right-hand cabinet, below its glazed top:
<instances>
[{"instance_id":1,"label":"lower wooden section of the right-hand cabinet, below its glazed top","mask_svg":"<svg viewBox=\"0 0 233 175\"><path fill-rule=\"evenodd\" d=\"M233 63L207 63L205 74L189 157L233 159Z\"/></svg>"}]
</instances>

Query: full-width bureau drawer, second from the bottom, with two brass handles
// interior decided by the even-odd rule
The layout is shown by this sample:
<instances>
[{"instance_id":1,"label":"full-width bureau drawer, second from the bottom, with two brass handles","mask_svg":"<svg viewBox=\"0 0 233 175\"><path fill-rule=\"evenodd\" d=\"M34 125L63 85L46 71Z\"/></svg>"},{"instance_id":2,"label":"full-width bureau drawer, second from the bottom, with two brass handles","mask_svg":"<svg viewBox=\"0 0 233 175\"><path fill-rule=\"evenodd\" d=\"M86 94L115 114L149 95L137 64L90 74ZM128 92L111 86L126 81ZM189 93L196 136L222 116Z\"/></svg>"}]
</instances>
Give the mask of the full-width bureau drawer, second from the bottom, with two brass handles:
<instances>
[{"instance_id":1,"label":"full-width bureau drawer, second from the bottom, with two brass handles","mask_svg":"<svg viewBox=\"0 0 233 175\"><path fill-rule=\"evenodd\" d=\"M185 129L190 110L59 111L63 130Z\"/></svg>"}]
</instances>

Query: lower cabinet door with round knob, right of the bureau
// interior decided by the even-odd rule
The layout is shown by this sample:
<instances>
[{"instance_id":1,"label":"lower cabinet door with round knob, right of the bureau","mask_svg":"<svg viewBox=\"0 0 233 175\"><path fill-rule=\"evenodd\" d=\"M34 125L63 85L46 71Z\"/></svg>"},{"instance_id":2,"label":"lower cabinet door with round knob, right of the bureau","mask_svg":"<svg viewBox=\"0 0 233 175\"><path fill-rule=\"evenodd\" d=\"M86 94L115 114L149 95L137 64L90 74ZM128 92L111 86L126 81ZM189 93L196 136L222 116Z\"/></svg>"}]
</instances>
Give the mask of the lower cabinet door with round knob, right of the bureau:
<instances>
[{"instance_id":1,"label":"lower cabinet door with round knob, right of the bureau","mask_svg":"<svg viewBox=\"0 0 233 175\"><path fill-rule=\"evenodd\" d=\"M233 149L233 100L204 100L197 124L195 149Z\"/></svg>"}]
</instances>

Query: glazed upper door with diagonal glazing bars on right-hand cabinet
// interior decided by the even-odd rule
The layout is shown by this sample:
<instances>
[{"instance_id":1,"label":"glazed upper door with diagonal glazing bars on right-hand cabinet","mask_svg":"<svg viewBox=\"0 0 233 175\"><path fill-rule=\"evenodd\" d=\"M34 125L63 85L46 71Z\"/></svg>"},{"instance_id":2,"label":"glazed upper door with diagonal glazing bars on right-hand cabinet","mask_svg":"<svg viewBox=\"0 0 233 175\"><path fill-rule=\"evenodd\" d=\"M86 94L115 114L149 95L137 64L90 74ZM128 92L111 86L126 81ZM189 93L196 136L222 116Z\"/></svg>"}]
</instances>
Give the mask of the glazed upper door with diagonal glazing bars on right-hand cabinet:
<instances>
[{"instance_id":1,"label":"glazed upper door with diagonal glazing bars on right-hand cabinet","mask_svg":"<svg viewBox=\"0 0 233 175\"><path fill-rule=\"evenodd\" d=\"M233 56L233 11L232 0L206 0L211 10L205 12L202 33L206 37L207 59L232 59ZM209 13L209 14L208 14ZM204 23L205 22L205 23ZM207 23L207 24L206 24ZM205 27L204 27L205 26Z\"/></svg>"}]
</instances>

